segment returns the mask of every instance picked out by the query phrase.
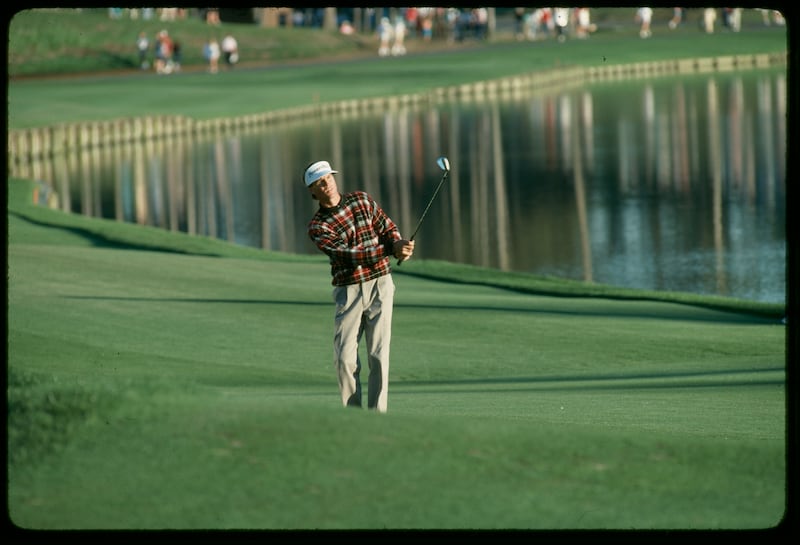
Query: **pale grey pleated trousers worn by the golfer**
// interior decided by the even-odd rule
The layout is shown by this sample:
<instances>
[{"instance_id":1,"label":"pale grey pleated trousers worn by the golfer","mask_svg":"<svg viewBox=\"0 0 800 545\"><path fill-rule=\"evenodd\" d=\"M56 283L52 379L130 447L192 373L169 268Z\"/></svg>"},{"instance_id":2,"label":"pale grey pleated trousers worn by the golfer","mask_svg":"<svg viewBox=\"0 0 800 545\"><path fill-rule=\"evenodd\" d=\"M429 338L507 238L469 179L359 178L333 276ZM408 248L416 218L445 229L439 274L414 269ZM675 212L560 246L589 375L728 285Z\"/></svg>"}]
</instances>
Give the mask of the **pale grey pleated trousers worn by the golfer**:
<instances>
[{"instance_id":1,"label":"pale grey pleated trousers worn by the golfer","mask_svg":"<svg viewBox=\"0 0 800 545\"><path fill-rule=\"evenodd\" d=\"M361 358L367 345L367 407L385 413L389 397L389 344L392 339L394 281L391 274L349 286L336 286L333 361L339 376L342 404L361 407Z\"/></svg>"}]
</instances>

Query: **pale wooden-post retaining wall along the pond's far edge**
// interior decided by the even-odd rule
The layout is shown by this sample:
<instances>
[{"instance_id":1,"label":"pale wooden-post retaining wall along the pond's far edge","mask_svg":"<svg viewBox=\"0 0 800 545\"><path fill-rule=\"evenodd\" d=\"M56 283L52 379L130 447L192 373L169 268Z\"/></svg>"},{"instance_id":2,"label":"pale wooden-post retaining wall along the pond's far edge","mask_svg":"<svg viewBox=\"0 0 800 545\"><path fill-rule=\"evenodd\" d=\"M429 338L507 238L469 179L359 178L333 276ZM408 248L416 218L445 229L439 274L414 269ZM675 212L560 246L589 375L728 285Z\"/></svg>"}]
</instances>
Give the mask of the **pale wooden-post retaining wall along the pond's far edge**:
<instances>
[{"instance_id":1,"label":"pale wooden-post retaining wall along the pond's far edge","mask_svg":"<svg viewBox=\"0 0 800 545\"><path fill-rule=\"evenodd\" d=\"M100 147L135 144L166 137L225 134L269 127L304 119L328 119L342 115L368 115L386 109L423 106L452 101L481 102L518 96L536 90L553 90L601 81L684 76L740 70L770 69L788 65L788 52L773 54L700 57L609 66L575 66L538 70L489 81L437 87L428 91L378 98L341 100L271 110L257 114L195 120L186 116L145 116L107 121L60 123L45 127L8 130L8 164L15 170L46 157Z\"/></svg>"}]
</instances>

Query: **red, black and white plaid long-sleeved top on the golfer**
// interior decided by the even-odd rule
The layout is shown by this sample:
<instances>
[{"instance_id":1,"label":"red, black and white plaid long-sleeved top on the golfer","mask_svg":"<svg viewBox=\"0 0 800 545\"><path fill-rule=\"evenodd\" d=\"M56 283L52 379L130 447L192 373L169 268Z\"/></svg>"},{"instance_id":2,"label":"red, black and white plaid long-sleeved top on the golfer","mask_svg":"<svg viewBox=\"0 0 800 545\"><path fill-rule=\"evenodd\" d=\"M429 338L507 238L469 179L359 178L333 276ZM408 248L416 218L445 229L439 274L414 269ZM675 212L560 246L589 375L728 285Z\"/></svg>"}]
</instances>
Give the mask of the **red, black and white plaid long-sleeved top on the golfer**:
<instances>
[{"instance_id":1,"label":"red, black and white plaid long-sleeved top on the golfer","mask_svg":"<svg viewBox=\"0 0 800 545\"><path fill-rule=\"evenodd\" d=\"M333 208L320 206L308 223L308 236L330 258L334 286L390 273L392 247L401 238L394 222L363 191L345 193Z\"/></svg>"}]
</instances>

